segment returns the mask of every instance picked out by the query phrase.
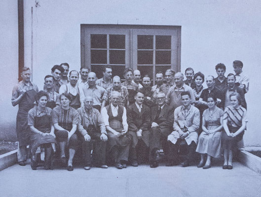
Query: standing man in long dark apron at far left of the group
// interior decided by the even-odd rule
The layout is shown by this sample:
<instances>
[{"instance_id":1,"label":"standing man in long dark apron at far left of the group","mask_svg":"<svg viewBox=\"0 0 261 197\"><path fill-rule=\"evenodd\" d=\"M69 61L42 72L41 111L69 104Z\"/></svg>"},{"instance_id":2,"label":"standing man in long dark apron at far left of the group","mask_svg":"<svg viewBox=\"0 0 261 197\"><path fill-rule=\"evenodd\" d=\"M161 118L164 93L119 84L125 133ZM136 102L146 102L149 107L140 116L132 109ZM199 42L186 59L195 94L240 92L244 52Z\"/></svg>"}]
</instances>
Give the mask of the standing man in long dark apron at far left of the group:
<instances>
[{"instance_id":1,"label":"standing man in long dark apron at far left of the group","mask_svg":"<svg viewBox=\"0 0 261 197\"><path fill-rule=\"evenodd\" d=\"M28 111L34 107L35 95L38 92L37 85L31 79L31 70L23 67L21 72L22 81L16 84L12 92L12 105L19 104L16 118L16 132L19 141L17 160L19 165L25 165L27 159L26 146L29 144Z\"/></svg>"}]
</instances>

